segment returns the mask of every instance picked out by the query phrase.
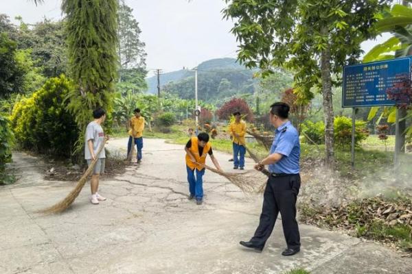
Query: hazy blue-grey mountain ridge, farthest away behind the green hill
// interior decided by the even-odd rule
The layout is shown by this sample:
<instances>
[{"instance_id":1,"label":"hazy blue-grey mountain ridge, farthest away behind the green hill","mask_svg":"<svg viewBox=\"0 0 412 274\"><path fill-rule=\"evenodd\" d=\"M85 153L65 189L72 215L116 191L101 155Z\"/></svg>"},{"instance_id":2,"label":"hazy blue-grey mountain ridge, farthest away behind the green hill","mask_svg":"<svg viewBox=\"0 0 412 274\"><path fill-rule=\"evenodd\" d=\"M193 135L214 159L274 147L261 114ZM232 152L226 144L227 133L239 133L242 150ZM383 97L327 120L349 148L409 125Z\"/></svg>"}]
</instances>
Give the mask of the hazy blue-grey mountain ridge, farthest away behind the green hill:
<instances>
[{"instance_id":1,"label":"hazy blue-grey mountain ridge, farthest away behind the green hill","mask_svg":"<svg viewBox=\"0 0 412 274\"><path fill-rule=\"evenodd\" d=\"M206 76L205 73L218 73L218 72L229 72L229 73L240 73L240 71L247 71L247 69L236 62L234 58L219 58L219 59L211 59L201 64L198 64L198 75ZM251 71L250 71L251 72ZM251 73L250 73L251 75ZM183 79L188 79L194 77L194 73L192 71L172 71L170 73L163 73L160 75L160 86L161 90L163 90L163 86L167 84L171 84L172 82L175 84L177 82L182 81ZM231 78L231 77L229 77ZM247 76L249 78L249 75ZM157 75L146 78L146 82L148 84L148 92L152 94L157 93Z\"/></svg>"}]
</instances>

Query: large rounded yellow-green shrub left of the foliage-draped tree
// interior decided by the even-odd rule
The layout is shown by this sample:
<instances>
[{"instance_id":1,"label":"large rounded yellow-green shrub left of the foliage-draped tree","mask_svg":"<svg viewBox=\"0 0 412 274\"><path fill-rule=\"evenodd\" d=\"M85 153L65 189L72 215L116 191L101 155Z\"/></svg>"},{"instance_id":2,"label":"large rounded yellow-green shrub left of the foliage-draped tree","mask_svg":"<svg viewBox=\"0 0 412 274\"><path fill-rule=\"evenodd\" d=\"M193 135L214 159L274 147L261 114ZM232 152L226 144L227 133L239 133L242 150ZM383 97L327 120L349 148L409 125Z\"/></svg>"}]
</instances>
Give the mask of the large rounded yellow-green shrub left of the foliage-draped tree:
<instances>
[{"instance_id":1,"label":"large rounded yellow-green shrub left of the foliage-draped tree","mask_svg":"<svg viewBox=\"0 0 412 274\"><path fill-rule=\"evenodd\" d=\"M68 157L78 139L78 128L66 110L73 85L64 75L47 80L32 97L14 105L11 125L23 149Z\"/></svg>"}]
</instances>

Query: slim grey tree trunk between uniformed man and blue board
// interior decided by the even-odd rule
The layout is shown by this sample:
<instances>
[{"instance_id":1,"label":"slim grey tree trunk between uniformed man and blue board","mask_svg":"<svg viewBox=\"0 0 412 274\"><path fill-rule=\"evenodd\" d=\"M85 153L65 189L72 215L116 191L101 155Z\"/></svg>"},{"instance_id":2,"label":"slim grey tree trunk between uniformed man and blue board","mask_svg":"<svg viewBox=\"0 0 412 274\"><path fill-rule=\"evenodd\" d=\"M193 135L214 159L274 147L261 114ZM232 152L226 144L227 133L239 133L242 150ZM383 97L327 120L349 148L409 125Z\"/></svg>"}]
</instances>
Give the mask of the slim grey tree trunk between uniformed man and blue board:
<instances>
[{"instance_id":1,"label":"slim grey tree trunk between uniformed man and blue board","mask_svg":"<svg viewBox=\"0 0 412 274\"><path fill-rule=\"evenodd\" d=\"M328 29L323 28L323 34L328 34ZM321 52L321 75L323 112L325 114L325 166L334 169L334 115L332 105L332 78L330 76L330 46L327 45Z\"/></svg>"}]
</instances>

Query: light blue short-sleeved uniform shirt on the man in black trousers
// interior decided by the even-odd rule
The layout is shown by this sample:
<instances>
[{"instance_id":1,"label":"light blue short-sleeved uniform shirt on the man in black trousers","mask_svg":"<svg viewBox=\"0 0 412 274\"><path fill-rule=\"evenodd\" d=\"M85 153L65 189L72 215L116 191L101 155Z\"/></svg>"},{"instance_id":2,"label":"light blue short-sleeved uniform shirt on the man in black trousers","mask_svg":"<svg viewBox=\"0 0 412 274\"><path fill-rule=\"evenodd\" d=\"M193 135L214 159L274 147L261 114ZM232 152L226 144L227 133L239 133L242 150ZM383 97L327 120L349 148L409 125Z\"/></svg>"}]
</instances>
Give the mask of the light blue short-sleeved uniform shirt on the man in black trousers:
<instances>
[{"instance_id":1,"label":"light blue short-sleeved uniform shirt on the man in black trousers","mask_svg":"<svg viewBox=\"0 0 412 274\"><path fill-rule=\"evenodd\" d=\"M282 159L275 164L269 164L272 173L299 173L300 144L299 134L290 121L287 121L275 130L275 138L271 147L271 154L282 154Z\"/></svg>"}]
</instances>

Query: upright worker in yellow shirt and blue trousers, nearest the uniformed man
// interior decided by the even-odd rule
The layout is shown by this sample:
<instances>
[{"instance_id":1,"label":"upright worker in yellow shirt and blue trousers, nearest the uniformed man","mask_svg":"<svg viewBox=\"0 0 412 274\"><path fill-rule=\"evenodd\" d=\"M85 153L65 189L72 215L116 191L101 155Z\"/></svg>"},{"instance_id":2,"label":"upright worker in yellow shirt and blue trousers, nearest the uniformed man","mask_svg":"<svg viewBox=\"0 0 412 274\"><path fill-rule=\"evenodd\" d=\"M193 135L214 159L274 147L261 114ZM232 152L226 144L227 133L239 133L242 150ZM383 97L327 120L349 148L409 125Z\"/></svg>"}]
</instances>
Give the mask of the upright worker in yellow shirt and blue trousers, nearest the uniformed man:
<instances>
[{"instance_id":1,"label":"upright worker in yellow shirt and blue trousers, nearest the uniformed man","mask_svg":"<svg viewBox=\"0 0 412 274\"><path fill-rule=\"evenodd\" d=\"M233 113L235 121L229 126L229 132L232 136L233 142L233 169L244 169L244 154L246 153L246 140L244 135L246 134L246 123L242 121L240 112ZM238 155L240 157L238 158Z\"/></svg>"}]
</instances>

